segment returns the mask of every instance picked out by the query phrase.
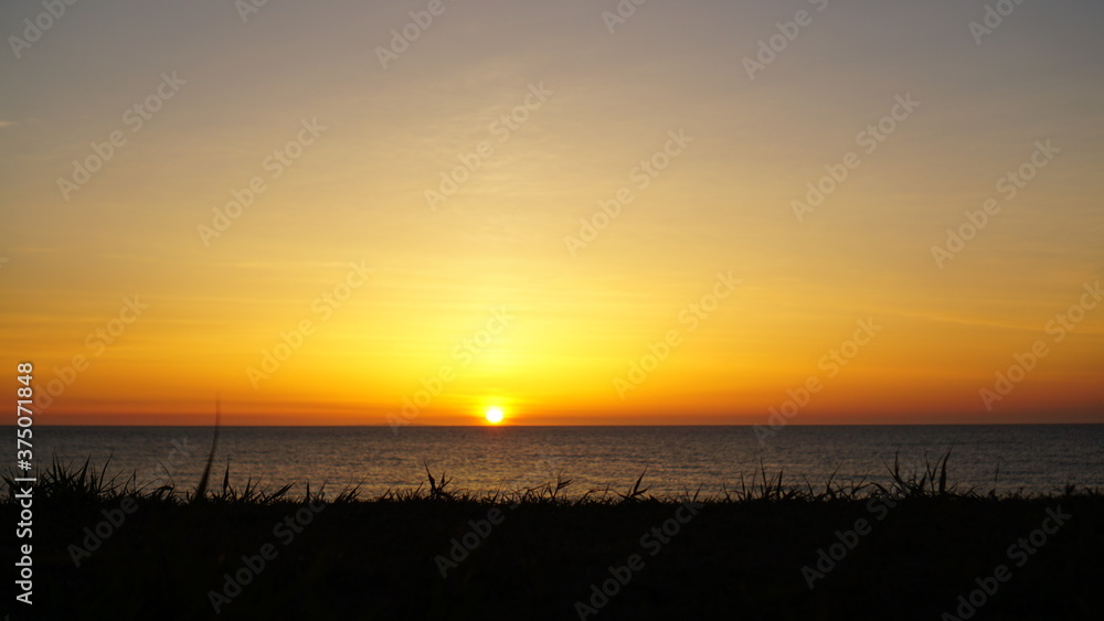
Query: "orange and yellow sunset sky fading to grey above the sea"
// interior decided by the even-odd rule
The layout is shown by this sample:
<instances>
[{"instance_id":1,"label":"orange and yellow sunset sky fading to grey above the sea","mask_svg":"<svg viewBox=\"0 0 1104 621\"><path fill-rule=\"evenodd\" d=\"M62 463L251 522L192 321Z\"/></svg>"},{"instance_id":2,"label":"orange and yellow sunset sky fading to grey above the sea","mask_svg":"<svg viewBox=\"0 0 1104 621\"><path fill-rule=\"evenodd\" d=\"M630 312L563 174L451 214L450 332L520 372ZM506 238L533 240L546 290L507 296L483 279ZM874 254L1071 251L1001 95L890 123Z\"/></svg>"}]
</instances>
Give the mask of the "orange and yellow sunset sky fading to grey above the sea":
<instances>
[{"instance_id":1,"label":"orange and yellow sunset sky fading to grey above the sea","mask_svg":"<svg viewBox=\"0 0 1104 621\"><path fill-rule=\"evenodd\" d=\"M0 9L39 424L1104 422L1098 2L257 4Z\"/></svg>"}]
</instances>

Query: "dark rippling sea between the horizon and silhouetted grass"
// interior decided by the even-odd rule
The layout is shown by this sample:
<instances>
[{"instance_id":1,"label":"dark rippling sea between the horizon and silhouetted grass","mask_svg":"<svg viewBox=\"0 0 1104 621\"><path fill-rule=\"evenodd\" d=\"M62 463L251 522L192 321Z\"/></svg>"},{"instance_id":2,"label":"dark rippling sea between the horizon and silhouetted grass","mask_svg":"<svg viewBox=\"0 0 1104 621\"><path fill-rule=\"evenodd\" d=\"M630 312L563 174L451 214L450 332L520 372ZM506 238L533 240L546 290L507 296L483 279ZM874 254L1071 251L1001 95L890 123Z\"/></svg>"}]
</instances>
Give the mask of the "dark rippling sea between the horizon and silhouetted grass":
<instances>
[{"instance_id":1,"label":"dark rippling sea between the horizon and silhouetted grass","mask_svg":"<svg viewBox=\"0 0 1104 621\"><path fill-rule=\"evenodd\" d=\"M146 483L194 489L211 449L209 427L36 427L35 460L137 472ZM8 436L14 438L14 433ZM12 453L14 439L10 440ZM762 446L751 427L229 427L215 456L215 483L247 478L277 488L296 482L339 491L361 484L361 496L414 488L445 473L450 489L477 494L571 479L569 496L588 490L641 486L657 496L698 489L740 489L761 468L783 483L822 488L841 482L889 482L887 463L922 468L952 449L948 482L959 490L1045 493L1066 483L1104 489L1104 425L794 426ZM108 464L108 458L110 462Z\"/></svg>"}]
</instances>

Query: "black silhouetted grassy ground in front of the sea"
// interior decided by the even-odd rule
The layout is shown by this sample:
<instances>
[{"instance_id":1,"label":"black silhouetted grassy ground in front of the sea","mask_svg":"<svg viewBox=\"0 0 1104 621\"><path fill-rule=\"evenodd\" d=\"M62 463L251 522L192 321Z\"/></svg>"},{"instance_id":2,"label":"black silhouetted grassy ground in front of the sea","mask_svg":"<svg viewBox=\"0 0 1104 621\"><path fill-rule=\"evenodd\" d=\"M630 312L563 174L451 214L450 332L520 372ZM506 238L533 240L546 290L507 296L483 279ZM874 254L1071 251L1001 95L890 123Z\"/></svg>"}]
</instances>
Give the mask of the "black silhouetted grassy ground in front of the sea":
<instances>
[{"instance_id":1,"label":"black silhouetted grassy ground in front of the sea","mask_svg":"<svg viewBox=\"0 0 1104 621\"><path fill-rule=\"evenodd\" d=\"M3 611L13 620L976 620L1104 610L1100 493L995 497L921 483L869 493L767 484L701 503L556 494L477 501L434 490L308 504L224 489L197 503L55 482L35 490L33 606L15 602L17 588ZM18 501L6 496L0 518L14 525ZM20 554L11 535L4 542L11 585Z\"/></svg>"}]
</instances>

